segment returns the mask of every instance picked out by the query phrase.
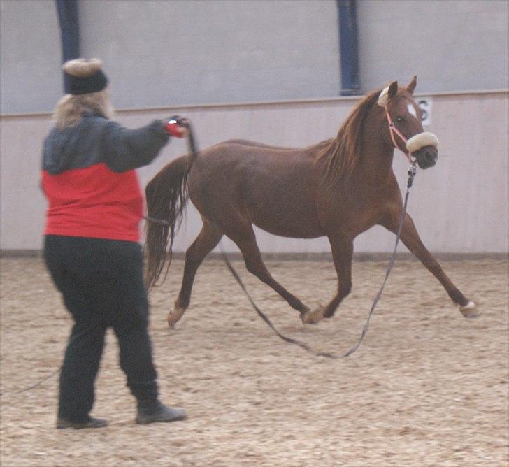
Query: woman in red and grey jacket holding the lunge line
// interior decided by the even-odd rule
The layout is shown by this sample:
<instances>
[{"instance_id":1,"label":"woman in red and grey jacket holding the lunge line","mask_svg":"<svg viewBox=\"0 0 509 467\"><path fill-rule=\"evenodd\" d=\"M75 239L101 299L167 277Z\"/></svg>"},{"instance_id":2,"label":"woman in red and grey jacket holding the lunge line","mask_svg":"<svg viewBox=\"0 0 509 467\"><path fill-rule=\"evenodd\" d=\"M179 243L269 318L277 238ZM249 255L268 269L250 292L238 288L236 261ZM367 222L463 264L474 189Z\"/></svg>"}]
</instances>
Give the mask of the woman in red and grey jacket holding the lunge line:
<instances>
[{"instance_id":1,"label":"woman in red and grey jacket holding the lunge line","mask_svg":"<svg viewBox=\"0 0 509 467\"><path fill-rule=\"evenodd\" d=\"M89 412L108 327L117 335L120 366L137 401L136 423L185 419L185 410L158 399L138 243L143 197L134 169L150 164L170 136L187 130L175 119L140 129L110 120L101 65L98 59L64 64L66 95L43 146L45 264L74 320L59 380L59 429L107 425Z\"/></svg>"}]
</instances>

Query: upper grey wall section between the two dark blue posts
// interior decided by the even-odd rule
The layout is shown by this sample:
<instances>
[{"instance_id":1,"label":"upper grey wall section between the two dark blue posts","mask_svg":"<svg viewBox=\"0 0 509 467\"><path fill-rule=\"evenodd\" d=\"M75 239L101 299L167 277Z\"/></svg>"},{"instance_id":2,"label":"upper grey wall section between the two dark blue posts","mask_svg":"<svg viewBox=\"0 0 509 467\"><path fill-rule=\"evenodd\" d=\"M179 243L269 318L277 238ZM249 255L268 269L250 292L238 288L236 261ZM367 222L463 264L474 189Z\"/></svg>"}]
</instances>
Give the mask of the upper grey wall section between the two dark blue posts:
<instances>
[{"instance_id":1,"label":"upper grey wall section between the two dark blue posts","mask_svg":"<svg viewBox=\"0 0 509 467\"><path fill-rule=\"evenodd\" d=\"M116 106L338 95L333 0L80 2Z\"/></svg>"}]
</instances>

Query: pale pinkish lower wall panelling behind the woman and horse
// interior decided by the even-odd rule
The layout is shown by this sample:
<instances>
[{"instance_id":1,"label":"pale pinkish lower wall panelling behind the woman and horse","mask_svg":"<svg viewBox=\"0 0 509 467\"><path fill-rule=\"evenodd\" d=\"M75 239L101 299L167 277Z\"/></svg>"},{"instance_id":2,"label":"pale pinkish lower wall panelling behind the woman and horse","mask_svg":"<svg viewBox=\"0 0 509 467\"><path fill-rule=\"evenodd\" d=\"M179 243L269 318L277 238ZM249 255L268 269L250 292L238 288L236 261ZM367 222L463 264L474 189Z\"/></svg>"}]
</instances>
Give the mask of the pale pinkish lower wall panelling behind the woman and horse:
<instances>
[{"instance_id":1,"label":"pale pinkish lower wall panelling behind the woman and horse","mask_svg":"<svg viewBox=\"0 0 509 467\"><path fill-rule=\"evenodd\" d=\"M508 251L509 93L431 96L431 125L440 139L438 164L418 171L409 212L424 243L433 252ZM334 136L356 99L329 99L131 110L118 113L127 127L180 113L196 129L199 148L229 138L306 146ZM305 124L303 124L305 123ZM0 248L41 247L45 200L38 189L41 141L52 125L50 115L0 117ZM187 152L185 141L173 140L162 155L139 171L142 185L171 159ZM408 162L396 152L394 172L406 182ZM185 251L201 227L192 207L175 241ZM263 252L329 252L326 238L296 240L257 231ZM224 242L227 250L236 247ZM394 235L375 227L359 236L356 252L389 252ZM403 247L400 248L404 250Z\"/></svg>"}]
</instances>

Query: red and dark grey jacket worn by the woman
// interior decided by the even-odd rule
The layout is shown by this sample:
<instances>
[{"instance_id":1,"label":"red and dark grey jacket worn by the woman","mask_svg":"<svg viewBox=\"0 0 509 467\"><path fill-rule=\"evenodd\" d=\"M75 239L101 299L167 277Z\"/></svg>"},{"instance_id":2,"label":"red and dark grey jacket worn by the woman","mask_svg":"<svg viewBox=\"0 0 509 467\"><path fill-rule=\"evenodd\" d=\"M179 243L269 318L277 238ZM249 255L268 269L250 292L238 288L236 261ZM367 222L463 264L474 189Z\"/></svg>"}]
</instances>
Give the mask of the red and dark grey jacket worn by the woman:
<instances>
[{"instance_id":1,"label":"red and dark grey jacket worn by the woman","mask_svg":"<svg viewBox=\"0 0 509 467\"><path fill-rule=\"evenodd\" d=\"M44 234L137 242L143 196L134 169L168 140L159 120L127 129L85 114L76 126L52 129L43 146Z\"/></svg>"}]
</instances>

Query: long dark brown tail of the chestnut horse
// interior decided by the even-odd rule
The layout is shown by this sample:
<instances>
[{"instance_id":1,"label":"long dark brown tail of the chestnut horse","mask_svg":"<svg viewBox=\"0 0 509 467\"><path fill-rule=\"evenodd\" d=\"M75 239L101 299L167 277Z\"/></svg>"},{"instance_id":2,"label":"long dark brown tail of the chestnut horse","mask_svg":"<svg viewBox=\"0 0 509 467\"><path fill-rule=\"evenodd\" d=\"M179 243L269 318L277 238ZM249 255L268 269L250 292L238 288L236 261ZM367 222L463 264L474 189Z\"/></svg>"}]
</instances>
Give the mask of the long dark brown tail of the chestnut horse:
<instances>
[{"instance_id":1,"label":"long dark brown tail of the chestnut horse","mask_svg":"<svg viewBox=\"0 0 509 467\"><path fill-rule=\"evenodd\" d=\"M154 287L162 273L166 262L168 243L170 244L168 268L170 267L173 238L180 222L182 222L189 197L187 175L191 170L193 159L193 155L189 155L170 162L150 180L145 188L148 220L145 227L145 254L147 256L145 282L148 289Z\"/></svg>"}]
</instances>

